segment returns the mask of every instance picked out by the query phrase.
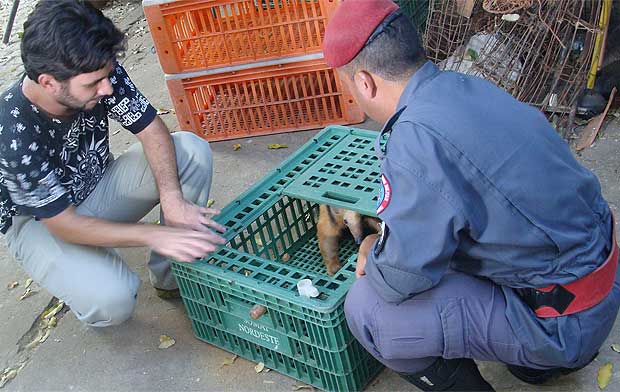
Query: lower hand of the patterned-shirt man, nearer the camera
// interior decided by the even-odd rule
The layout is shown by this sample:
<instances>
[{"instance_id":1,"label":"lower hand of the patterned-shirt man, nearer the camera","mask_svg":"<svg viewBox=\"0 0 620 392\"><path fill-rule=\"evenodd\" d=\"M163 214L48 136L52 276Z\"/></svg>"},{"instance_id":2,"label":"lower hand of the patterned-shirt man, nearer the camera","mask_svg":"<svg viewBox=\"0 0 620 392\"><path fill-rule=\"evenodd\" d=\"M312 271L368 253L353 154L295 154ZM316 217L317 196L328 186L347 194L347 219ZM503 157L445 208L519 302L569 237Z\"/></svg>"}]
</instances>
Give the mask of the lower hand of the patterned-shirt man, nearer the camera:
<instances>
[{"instance_id":1,"label":"lower hand of the patterned-shirt man, nearer the camera","mask_svg":"<svg viewBox=\"0 0 620 392\"><path fill-rule=\"evenodd\" d=\"M226 243L223 237L209 229L196 231L178 227L152 225L147 246L155 252L181 262L201 259ZM219 225L218 225L219 226Z\"/></svg>"}]
</instances>

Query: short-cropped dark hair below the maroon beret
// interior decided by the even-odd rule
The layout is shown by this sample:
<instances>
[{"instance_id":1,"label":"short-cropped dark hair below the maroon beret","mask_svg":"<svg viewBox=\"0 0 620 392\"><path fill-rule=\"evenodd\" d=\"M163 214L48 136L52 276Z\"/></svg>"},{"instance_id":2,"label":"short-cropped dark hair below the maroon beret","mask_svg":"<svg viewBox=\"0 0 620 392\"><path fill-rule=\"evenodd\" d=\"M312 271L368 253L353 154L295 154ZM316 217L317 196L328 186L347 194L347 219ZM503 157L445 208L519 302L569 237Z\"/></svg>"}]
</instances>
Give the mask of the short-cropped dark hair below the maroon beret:
<instances>
[{"instance_id":1,"label":"short-cropped dark hair below the maroon beret","mask_svg":"<svg viewBox=\"0 0 620 392\"><path fill-rule=\"evenodd\" d=\"M350 77L357 71L366 70L390 81L408 80L426 61L418 32L404 14L393 19L374 39L371 35L370 39L372 41L341 68Z\"/></svg>"}]
</instances>

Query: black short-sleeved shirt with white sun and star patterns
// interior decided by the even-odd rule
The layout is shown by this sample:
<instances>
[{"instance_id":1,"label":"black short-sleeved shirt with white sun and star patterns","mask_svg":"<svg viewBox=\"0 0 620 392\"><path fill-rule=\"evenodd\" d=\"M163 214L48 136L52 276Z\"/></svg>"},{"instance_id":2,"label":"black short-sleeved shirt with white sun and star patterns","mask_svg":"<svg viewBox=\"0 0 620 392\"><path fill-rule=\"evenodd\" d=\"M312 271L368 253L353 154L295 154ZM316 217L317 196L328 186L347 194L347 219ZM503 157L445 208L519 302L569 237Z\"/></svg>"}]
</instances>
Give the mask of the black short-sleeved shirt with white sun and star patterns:
<instances>
[{"instance_id":1,"label":"black short-sleeved shirt with white sun and star patterns","mask_svg":"<svg viewBox=\"0 0 620 392\"><path fill-rule=\"evenodd\" d=\"M136 134L157 112L123 67L112 95L93 109L54 118L22 93L23 79L0 96L0 232L15 215L51 218L95 189L109 159L108 116Z\"/></svg>"}]
</instances>

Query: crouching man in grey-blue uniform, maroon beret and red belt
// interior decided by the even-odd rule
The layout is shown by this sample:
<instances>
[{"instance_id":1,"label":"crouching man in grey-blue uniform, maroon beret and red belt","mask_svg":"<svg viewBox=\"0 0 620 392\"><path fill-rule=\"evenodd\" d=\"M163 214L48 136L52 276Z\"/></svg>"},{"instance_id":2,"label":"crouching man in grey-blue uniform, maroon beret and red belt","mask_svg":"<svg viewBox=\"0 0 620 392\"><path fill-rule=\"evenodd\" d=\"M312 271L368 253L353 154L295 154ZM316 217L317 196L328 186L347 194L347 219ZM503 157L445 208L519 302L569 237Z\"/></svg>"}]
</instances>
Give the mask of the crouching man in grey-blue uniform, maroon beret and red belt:
<instances>
[{"instance_id":1,"label":"crouching man in grey-blue uniform, maroon beret and red belt","mask_svg":"<svg viewBox=\"0 0 620 392\"><path fill-rule=\"evenodd\" d=\"M597 178L537 109L427 61L390 0L344 1L323 45L385 124L384 230L345 303L356 338L428 391L492 390L474 359L529 383L590 363L620 306Z\"/></svg>"}]
</instances>

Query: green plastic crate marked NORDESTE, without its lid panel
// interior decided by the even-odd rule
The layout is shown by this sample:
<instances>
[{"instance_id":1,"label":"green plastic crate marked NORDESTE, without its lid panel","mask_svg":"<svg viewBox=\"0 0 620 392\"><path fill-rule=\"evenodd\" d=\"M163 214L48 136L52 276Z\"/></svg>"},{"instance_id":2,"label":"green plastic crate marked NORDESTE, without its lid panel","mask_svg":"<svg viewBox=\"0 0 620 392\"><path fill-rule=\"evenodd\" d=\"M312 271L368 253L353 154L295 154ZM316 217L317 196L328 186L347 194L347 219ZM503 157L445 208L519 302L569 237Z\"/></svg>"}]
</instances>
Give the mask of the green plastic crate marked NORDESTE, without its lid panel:
<instances>
[{"instance_id":1,"label":"green plastic crate marked NORDESTE, without its lid panel","mask_svg":"<svg viewBox=\"0 0 620 392\"><path fill-rule=\"evenodd\" d=\"M376 136L326 128L222 210L217 220L227 227L225 246L196 263L173 263L199 339L324 390L361 390L379 373L382 365L355 340L344 316L357 246L344 242L343 267L326 275L316 239L322 199L303 197L298 186L303 184L298 179L320 170L328 157L351 151L351 143L363 146L355 156L373 154ZM369 173L375 164L365 165ZM364 200L372 199L366 194ZM301 279L311 279L320 295L300 297ZM254 305L267 309L256 320L249 315Z\"/></svg>"}]
</instances>

